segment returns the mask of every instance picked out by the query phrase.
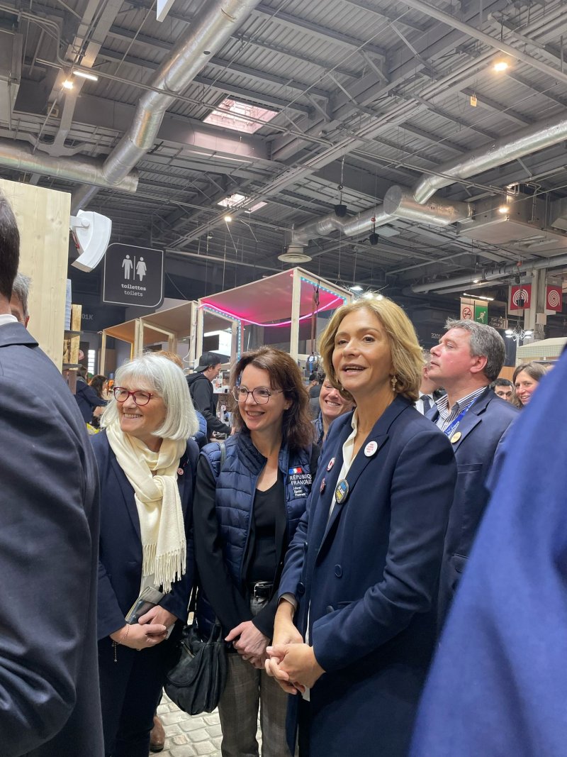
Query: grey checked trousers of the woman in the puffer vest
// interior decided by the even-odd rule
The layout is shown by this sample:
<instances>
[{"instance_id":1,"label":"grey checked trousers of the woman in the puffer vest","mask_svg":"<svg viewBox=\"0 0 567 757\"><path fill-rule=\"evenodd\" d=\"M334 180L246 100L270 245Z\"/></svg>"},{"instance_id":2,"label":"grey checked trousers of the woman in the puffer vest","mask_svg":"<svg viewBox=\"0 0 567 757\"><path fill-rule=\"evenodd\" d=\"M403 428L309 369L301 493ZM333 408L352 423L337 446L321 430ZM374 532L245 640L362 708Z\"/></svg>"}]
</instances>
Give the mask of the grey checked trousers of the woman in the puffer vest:
<instances>
[{"instance_id":1,"label":"grey checked trousers of the woman in the puffer vest","mask_svg":"<svg viewBox=\"0 0 567 757\"><path fill-rule=\"evenodd\" d=\"M251 600L253 615L263 604ZM258 708L262 757L290 757L286 742L287 693L265 670L254 668L237 653L229 654L227 683L218 702L222 757L259 757Z\"/></svg>"}]
</instances>

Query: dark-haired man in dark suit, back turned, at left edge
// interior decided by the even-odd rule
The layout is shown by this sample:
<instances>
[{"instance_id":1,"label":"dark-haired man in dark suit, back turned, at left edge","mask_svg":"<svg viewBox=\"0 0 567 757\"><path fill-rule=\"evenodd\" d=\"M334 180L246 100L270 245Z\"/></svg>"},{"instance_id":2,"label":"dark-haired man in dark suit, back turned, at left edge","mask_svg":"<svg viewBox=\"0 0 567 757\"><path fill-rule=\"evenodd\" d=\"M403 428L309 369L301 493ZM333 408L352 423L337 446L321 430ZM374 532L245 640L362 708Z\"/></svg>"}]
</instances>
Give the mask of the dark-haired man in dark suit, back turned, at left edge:
<instances>
[{"instance_id":1,"label":"dark-haired man in dark suit, back turned, at left edge","mask_svg":"<svg viewBox=\"0 0 567 757\"><path fill-rule=\"evenodd\" d=\"M99 757L96 463L64 379L11 315L19 243L0 195L0 752Z\"/></svg>"}]
</instances>

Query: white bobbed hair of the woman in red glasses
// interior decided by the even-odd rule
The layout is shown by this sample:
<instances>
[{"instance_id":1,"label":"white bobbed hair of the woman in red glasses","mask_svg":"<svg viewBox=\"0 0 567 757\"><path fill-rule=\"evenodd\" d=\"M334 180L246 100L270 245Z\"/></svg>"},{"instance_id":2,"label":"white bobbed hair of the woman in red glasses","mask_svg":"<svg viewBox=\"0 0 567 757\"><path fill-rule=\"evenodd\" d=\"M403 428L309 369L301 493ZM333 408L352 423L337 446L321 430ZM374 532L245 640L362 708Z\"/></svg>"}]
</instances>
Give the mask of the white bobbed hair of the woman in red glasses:
<instances>
[{"instance_id":1,"label":"white bobbed hair of the woman in red glasses","mask_svg":"<svg viewBox=\"0 0 567 757\"><path fill-rule=\"evenodd\" d=\"M115 386L122 386L123 382L133 385L140 382L140 388L155 391L163 399L166 419L160 428L156 428L153 436L162 439L189 439L199 430L187 379L172 360L151 352L128 360L116 370L114 378ZM118 419L118 403L112 396L101 416L101 426L106 428Z\"/></svg>"}]
</instances>

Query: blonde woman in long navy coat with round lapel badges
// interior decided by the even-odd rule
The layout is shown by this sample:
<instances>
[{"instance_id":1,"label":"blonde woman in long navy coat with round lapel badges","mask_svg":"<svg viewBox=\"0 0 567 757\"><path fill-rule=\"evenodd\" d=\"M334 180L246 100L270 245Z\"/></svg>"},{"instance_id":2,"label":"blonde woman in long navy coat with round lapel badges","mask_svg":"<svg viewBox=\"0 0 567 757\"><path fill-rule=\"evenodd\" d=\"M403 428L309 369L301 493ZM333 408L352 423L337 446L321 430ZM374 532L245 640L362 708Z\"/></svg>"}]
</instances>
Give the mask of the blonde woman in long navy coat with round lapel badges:
<instances>
[{"instance_id":1,"label":"blonde woman in long navy coat with round lapel badges","mask_svg":"<svg viewBox=\"0 0 567 757\"><path fill-rule=\"evenodd\" d=\"M398 305L340 308L320 351L357 409L325 441L266 667L295 694L288 742L299 720L301 757L402 757L435 643L457 469L448 439L413 407L423 357Z\"/></svg>"}]
</instances>

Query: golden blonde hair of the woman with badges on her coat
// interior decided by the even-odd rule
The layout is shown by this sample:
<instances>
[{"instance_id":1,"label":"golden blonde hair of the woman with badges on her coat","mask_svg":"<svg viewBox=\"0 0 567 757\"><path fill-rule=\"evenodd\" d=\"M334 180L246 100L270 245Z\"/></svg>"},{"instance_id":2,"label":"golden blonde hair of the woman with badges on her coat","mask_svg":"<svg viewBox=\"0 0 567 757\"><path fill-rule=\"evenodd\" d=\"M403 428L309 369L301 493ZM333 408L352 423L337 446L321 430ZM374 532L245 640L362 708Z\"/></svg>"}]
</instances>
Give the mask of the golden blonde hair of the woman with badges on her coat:
<instances>
[{"instance_id":1,"label":"golden blonde hair of the woman with badges on her coat","mask_svg":"<svg viewBox=\"0 0 567 757\"><path fill-rule=\"evenodd\" d=\"M407 397L408 400L415 402L420 396L421 372L424 363L423 350L417 341L411 320L401 307L396 305L393 300L379 294L373 294L371 298L364 298L364 300L343 305L333 314L319 340L319 353L323 359L327 378L334 387L341 391L344 397L352 400L349 392L342 388L336 378L333 367L333 351L336 333L339 331L342 319L356 310L369 310L382 324L388 337L392 366L397 379L394 391L396 394L401 394L402 397Z\"/></svg>"}]
</instances>

